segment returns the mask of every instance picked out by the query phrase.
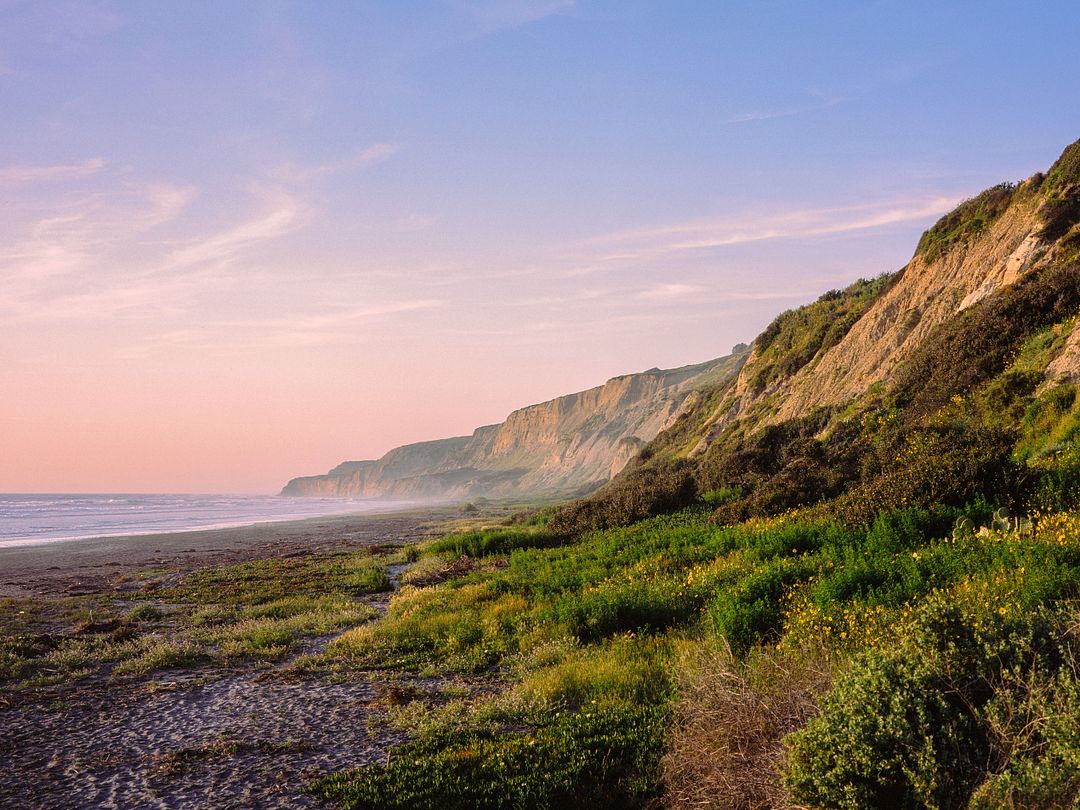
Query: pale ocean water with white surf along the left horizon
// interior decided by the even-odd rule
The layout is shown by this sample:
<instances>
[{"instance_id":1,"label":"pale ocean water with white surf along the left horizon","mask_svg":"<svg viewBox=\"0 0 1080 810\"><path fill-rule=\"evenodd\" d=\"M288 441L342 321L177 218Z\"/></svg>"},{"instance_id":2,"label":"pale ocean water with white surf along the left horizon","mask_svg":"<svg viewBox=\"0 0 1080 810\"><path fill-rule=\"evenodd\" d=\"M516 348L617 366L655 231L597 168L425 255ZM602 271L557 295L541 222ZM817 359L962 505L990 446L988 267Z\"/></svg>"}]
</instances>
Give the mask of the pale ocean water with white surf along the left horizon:
<instances>
[{"instance_id":1,"label":"pale ocean water with white surf along the left horizon","mask_svg":"<svg viewBox=\"0 0 1080 810\"><path fill-rule=\"evenodd\" d=\"M403 501L269 495L0 494L0 548L220 529L406 505Z\"/></svg>"}]
</instances>

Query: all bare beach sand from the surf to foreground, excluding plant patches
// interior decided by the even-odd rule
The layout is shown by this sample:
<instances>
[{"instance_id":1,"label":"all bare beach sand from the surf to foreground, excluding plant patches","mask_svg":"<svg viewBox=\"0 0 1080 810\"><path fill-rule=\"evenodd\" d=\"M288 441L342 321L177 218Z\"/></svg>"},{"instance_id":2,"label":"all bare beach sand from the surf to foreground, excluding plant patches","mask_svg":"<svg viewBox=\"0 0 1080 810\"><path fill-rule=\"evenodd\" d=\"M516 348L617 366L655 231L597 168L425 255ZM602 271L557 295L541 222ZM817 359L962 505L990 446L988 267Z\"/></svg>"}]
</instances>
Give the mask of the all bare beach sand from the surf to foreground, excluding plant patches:
<instances>
[{"instance_id":1,"label":"all bare beach sand from the surf to foreground, excluding plant patches","mask_svg":"<svg viewBox=\"0 0 1080 810\"><path fill-rule=\"evenodd\" d=\"M0 605L8 603L9 625L0 627L0 642L36 645L48 654L81 644L131 644L110 639L132 633L168 640L181 626L193 632L186 617L198 606L157 594L167 594L185 575L251 561L276 569L392 558L395 549L441 534L458 516L450 509L410 510L0 549L0 596L11 597L0 598ZM384 612L404 568L390 565L386 586L349 603L364 616ZM132 605L152 606L159 618L150 624L103 623L91 613L81 625L49 618L64 616L55 612L58 606L72 602L111 606L121 617ZM19 627L24 613L38 615L32 626ZM0 807L324 806L303 793L312 779L381 761L402 742L400 732L380 725L388 689L403 688L400 677L388 687L379 673L298 666L336 635L299 637L270 660L197 658L134 678L106 665L53 681L45 669L39 670L46 676L41 686L0 683L0 757L6 764ZM437 689L442 679L411 683L406 688Z\"/></svg>"}]
</instances>

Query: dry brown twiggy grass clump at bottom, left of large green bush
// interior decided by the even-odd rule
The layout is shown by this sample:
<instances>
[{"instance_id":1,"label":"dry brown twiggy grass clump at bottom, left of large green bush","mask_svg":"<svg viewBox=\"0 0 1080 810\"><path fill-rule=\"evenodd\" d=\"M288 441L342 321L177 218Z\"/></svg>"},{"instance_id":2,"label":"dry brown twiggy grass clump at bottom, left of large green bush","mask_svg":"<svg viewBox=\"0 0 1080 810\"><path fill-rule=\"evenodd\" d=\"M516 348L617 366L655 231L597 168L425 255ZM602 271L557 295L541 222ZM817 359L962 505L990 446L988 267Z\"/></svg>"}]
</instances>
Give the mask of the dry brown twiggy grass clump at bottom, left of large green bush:
<instances>
[{"instance_id":1,"label":"dry brown twiggy grass clump at bottom, left of large green bush","mask_svg":"<svg viewBox=\"0 0 1080 810\"><path fill-rule=\"evenodd\" d=\"M819 714L833 681L828 653L766 650L738 662L726 646L708 646L678 670L679 702L661 766L665 805L793 807L780 778L783 739Z\"/></svg>"}]
</instances>

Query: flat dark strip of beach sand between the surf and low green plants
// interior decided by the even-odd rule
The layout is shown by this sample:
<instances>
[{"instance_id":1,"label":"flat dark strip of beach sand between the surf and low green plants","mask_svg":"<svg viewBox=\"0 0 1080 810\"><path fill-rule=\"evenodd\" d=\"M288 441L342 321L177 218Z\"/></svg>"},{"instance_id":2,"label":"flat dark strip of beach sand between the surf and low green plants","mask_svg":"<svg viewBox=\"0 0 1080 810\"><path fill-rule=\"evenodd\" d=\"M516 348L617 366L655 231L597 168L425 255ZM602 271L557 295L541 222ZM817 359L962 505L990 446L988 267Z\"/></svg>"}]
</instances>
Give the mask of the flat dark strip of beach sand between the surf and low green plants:
<instances>
[{"instance_id":1,"label":"flat dark strip of beach sand between the surf and low green plants","mask_svg":"<svg viewBox=\"0 0 1080 810\"><path fill-rule=\"evenodd\" d=\"M399 544L460 517L453 505L388 508L167 534L56 540L0 548L0 597L95 593L147 569L181 572L272 556Z\"/></svg>"}]
</instances>

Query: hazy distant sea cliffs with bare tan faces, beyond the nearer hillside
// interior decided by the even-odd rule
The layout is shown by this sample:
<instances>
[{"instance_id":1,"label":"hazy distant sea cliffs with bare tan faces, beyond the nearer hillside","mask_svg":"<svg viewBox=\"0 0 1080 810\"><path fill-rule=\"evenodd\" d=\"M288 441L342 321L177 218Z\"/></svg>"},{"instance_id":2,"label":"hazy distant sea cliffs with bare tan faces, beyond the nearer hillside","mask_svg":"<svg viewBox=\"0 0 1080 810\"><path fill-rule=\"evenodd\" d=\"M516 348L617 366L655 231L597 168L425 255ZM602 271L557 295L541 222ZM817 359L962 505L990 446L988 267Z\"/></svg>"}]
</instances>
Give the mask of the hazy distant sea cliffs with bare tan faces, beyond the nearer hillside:
<instances>
[{"instance_id":1,"label":"hazy distant sea cliffs with bare tan faces, beyond the nearer hillside","mask_svg":"<svg viewBox=\"0 0 1080 810\"><path fill-rule=\"evenodd\" d=\"M739 372L748 348L699 365L652 368L512 413L471 436L396 447L293 478L282 495L472 498L569 494L602 484L711 389Z\"/></svg>"}]
</instances>

